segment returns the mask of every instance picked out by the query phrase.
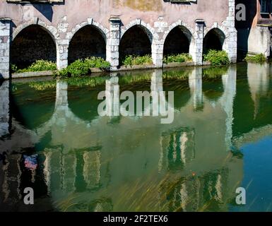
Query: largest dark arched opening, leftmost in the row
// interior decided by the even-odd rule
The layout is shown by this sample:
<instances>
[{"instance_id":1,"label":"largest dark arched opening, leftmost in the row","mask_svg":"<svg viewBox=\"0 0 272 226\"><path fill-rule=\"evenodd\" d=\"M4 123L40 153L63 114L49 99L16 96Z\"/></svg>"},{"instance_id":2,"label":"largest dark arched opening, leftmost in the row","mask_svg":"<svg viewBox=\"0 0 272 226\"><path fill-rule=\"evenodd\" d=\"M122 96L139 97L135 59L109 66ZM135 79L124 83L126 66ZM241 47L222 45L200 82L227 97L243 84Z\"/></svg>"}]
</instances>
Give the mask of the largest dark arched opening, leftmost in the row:
<instances>
[{"instance_id":1,"label":"largest dark arched opening, leftmost in the row","mask_svg":"<svg viewBox=\"0 0 272 226\"><path fill-rule=\"evenodd\" d=\"M36 60L57 61L54 38L40 25L30 25L11 44L11 64L24 69Z\"/></svg>"}]
</instances>

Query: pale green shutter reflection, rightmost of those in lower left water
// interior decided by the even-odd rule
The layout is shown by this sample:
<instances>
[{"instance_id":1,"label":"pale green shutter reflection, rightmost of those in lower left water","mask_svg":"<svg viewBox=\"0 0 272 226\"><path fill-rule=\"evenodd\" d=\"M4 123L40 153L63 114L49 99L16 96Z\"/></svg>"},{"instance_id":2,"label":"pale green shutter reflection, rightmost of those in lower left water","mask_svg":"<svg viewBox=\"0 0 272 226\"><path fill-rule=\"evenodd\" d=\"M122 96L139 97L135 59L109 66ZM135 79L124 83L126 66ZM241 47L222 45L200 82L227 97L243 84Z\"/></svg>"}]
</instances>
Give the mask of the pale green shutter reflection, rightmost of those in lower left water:
<instances>
[{"instance_id":1,"label":"pale green shutter reflection, rightmost of those in lower left water","mask_svg":"<svg viewBox=\"0 0 272 226\"><path fill-rule=\"evenodd\" d=\"M85 152L83 160L83 177L87 184L87 189L93 189L100 183L100 150Z\"/></svg>"}]
</instances>

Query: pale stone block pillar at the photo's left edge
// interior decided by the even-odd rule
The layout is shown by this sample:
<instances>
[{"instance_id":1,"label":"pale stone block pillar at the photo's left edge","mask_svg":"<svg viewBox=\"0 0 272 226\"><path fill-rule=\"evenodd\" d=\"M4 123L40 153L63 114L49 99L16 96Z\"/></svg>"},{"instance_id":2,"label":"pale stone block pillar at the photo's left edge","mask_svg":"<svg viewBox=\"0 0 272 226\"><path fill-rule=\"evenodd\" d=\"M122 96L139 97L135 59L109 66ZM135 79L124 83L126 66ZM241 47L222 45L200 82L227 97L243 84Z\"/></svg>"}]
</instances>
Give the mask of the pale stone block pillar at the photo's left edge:
<instances>
[{"instance_id":1,"label":"pale stone block pillar at the photo's left edge","mask_svg":"<svg viewBox=\"0 0 272 226\"><path fill-rule=\"evenodd\" d=\"M11 19L0 19L0 79L9 78Z\"/></svg>"}]
</instances>

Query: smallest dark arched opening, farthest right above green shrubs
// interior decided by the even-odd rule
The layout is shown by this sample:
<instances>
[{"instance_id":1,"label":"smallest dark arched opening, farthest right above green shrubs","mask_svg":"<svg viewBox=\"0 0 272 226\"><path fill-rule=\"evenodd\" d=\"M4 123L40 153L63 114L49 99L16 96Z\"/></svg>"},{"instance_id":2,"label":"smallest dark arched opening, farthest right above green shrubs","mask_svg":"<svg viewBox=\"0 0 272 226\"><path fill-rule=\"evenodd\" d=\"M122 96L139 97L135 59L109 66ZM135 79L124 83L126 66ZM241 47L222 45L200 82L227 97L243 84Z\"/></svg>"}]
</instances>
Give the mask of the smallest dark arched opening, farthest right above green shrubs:
<instances>
[{"instance_id":1,"label":"smallest dark arched opening, farthest right above green shrubs","mask_svg":"<svg viewBox=\"0 0 272 226\"><path fill-rule=\"evenodd\" d=\"M206 54L210 49L222 50L225 42L224 33L218 28L210 30L203 40L203 54Z\"/></svg>"}]
</instances>

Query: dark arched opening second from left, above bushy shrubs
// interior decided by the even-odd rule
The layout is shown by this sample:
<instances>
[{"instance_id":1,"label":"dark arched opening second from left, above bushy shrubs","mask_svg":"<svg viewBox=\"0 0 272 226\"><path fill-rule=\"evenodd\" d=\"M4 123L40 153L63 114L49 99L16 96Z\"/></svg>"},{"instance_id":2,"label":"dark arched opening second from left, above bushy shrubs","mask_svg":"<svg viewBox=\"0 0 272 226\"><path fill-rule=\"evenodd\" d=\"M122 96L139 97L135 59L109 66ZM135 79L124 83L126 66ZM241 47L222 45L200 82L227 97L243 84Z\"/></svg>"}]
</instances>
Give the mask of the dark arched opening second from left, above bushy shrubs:
<instances>
[{"instance_id":1,"label":"dark arched opening second from left, above bushy shrubs","mask_svg":"<svg viewBox=\"0 0 272 226\"><path fill-rule=\"evenodd\" d=\"M69 64L77 59L102 57L106 59L106 41L102 32L93 25L86 25L73 35L69 44Z\"/></svg>"}]
</instances>

